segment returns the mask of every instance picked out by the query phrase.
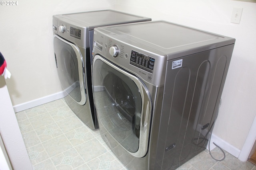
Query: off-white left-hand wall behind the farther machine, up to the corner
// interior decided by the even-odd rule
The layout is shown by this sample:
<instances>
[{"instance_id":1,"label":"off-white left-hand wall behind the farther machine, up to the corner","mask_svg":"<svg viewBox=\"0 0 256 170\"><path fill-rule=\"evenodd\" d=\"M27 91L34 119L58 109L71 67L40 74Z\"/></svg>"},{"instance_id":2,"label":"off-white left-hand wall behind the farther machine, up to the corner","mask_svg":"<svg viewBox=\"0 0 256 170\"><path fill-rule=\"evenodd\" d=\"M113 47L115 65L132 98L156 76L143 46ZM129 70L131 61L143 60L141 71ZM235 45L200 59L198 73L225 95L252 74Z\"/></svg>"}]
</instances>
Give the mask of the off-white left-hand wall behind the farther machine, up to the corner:
<instances>
[{"instance_id":1,"label":"off-white left-hand wall behind the farther machine, up to the corner","mask_svg":"<svg viewBox=\"0 0 256 170\"><path fill-rule=\"evenodd\" d=\"M54 59L52 15L113 9L115 0L17 2L16 6L0 5L0 51L12 73L6 84L14 106L62 91Z\"/></svg>"}]
</instances>

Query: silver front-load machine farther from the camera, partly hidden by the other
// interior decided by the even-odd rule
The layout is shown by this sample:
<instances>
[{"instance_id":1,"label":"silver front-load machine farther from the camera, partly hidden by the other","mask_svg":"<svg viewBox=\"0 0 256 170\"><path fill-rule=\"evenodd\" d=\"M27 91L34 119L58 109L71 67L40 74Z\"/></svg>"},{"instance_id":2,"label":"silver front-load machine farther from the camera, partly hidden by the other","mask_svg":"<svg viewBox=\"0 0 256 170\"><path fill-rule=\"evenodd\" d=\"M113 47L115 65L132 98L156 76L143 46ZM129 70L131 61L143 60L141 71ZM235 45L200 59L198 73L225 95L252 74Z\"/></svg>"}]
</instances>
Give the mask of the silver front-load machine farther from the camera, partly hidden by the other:
<instances>
[{"instance_id":1,"label":"silver front-load machine farther from the camera, partly hidden by the other","mask_svg":"<svg viewBox=\"0 0 256 170\"><path fill-rule=\"evenodd\" d=\"M66 102L91 129L98 123L92 95L92 40L98 26L151 21L114 10L53 16L54 54Z\"/></svg>"}]
</instances>

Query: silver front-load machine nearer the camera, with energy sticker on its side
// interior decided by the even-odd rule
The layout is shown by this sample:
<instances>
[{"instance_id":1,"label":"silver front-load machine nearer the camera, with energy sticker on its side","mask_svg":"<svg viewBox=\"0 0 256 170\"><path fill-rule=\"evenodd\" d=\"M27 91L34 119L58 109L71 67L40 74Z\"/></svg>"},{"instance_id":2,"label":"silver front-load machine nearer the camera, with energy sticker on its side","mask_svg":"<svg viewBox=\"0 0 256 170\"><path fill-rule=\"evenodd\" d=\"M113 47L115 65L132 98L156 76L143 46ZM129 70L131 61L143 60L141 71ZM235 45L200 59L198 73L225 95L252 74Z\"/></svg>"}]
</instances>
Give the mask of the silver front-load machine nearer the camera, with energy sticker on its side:
<instances>
[{"instance_id":1,"label":"silver front-load machine nearer the camera, with energy sticker on its side","mask_svg":"<svg viewBox=\"0 0 256 170\"><path fill-rule=\"evenodd\" d=\"M235 39L167 21L94 29L100 134L129 170L169 170L206 148Z\"/></svg>"}]
</instances>

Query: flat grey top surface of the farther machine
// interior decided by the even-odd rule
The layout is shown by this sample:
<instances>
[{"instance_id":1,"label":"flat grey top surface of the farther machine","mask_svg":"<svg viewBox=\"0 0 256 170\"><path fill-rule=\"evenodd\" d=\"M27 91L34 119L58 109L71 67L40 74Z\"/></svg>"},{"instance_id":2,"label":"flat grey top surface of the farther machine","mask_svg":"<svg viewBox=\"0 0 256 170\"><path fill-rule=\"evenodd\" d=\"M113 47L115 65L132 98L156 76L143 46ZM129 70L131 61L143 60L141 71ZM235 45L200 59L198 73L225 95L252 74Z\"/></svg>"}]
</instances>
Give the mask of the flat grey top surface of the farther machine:
<instances>
[{"instance_id":1,"label":"flat grey top surface of the farther machine","mask_svg":"<svg viewBox=\"0 0 256 170\"><path fill-rule=\"evenodd\" d=\"M61 18L66 18L79 23L82 27L89 27L90 30L94 27L116 25L122 23L132 23L135 21L151 21L150 18L126 14L114 10L102 10L92 12L81 12L74 14L58 15Z\"/></svg>"}]
</instances>

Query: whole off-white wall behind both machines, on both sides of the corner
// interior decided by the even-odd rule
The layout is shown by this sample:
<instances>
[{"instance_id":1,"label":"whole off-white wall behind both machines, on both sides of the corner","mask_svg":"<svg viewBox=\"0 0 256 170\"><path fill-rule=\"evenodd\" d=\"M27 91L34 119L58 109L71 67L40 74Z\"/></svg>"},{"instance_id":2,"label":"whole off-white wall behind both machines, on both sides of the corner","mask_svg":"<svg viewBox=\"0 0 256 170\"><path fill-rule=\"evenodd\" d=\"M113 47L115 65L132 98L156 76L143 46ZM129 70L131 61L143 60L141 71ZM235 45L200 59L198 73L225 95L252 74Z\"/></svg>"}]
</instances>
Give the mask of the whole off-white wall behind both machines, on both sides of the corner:
<instances>
[{"instance_id":1,"label":"whole off-white wall behind both machines, on both sides of the corner","mask_svg":"<svg viewBox=\"0 0 256 170\"><path fill-rule=\"evenodd\" d=\"M243 8L240 24L230 23ZM52 15L100 9L167 20L236 38L214 134L241 150L256 114L256 3L233 0L45 0L0 6L0 51L12 73L14 106L62 91L52 47ZM158 31L158 30L156 30Z\"/></svg>"}]
</instances>

